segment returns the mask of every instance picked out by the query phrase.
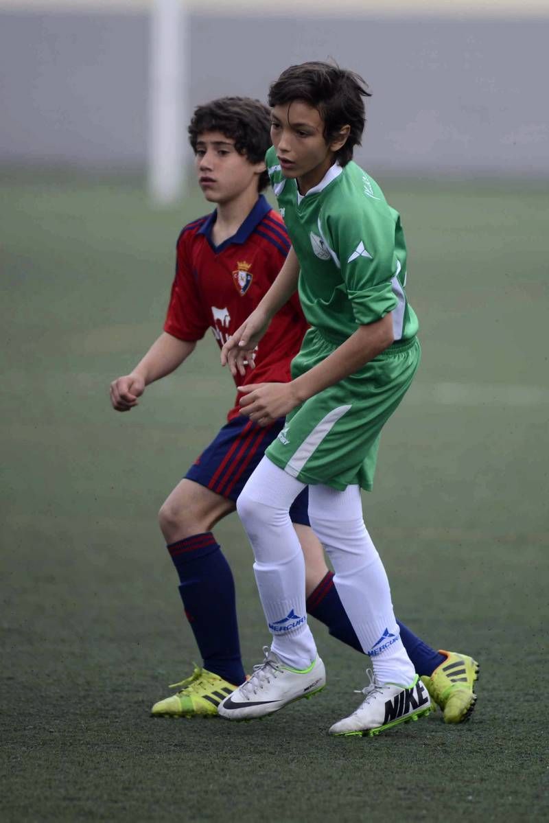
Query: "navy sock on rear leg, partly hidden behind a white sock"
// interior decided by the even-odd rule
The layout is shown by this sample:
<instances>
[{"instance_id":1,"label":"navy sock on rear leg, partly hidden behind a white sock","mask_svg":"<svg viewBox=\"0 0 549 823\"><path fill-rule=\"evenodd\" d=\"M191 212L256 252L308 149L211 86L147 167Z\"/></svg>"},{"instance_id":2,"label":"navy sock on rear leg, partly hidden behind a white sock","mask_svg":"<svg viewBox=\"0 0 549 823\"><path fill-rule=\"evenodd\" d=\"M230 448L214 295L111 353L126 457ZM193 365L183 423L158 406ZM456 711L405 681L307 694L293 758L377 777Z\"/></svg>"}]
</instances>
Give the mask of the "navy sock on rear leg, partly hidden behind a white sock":
<instances>
[{"instance_id":1,"label":"navy sock on rear leg, partly hidden behind a white sock","mask_svg":"<svg viewBox=\"0 0 549 823\"><path fill-rule=\"evenodd\" d=\"M328 573L320 581L314 592L307 598L307 611L309 615L316 617L324 625L328 626L330 635L342 640L347 646L362 652L359 639L351 621L347 617L347 611L343 608L342 602L337 594L337 588L333 584L333 572ZM435 671L440 663L446 659L443 654L435 652L426 645L423 640L410 631L406 625L397 621L400 628L402 644L407 651L407 655L412 661L416 672L421 675L430 675Z\"/></svg>"}]
</instances>

